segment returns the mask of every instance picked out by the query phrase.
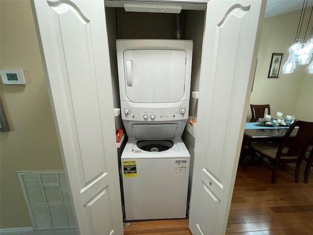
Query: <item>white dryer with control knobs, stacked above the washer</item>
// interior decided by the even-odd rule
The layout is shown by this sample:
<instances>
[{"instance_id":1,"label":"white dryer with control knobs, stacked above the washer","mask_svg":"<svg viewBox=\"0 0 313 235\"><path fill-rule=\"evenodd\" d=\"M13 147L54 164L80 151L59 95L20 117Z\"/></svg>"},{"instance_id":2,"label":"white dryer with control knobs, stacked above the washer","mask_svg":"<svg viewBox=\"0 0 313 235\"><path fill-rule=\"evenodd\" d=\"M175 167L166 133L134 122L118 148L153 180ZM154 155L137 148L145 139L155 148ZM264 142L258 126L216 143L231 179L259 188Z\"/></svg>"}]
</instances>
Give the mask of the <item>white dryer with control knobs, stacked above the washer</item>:
<instances>
[{"instance_id":1,"label":"white dryer with control knobs, stacked above the washer","mask_svg":"<svg viewBox=\"0 0 313 235\"><path fill-rule=\"evenodd\" d=\"M186 121L191 40L117 40L121 114L128 137L133 121ZM184 128L184 127L183 127Z\"/></svg>"}]
</instances>

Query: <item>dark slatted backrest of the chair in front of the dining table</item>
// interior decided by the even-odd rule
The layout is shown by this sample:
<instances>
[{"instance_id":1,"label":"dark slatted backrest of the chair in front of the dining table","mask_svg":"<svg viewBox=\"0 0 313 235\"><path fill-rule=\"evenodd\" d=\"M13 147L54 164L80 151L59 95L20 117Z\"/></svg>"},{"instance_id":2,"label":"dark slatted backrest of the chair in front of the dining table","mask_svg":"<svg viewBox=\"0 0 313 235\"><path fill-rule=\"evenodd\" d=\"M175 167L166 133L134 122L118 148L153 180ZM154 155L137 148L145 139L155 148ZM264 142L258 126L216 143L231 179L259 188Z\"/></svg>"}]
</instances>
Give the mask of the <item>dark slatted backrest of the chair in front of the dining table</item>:
<instances>
[{"instance_id":1,"label":"dark slatted backrest of the chair in front of the dining table","mask_svg":"<svg viewBox=\"0 0 313 235\"><path fill-rule=\"evenodd\" d=\"M290 142L290 134L295 127L299 127L296 136ZM283 140L281 141L277 155L280 156L304 156L307 148L313 141L313 122L296 120L289 127ZM289 150L286 153L282 153L283 148L286 146Z\"/></svg>"}]
</instances>

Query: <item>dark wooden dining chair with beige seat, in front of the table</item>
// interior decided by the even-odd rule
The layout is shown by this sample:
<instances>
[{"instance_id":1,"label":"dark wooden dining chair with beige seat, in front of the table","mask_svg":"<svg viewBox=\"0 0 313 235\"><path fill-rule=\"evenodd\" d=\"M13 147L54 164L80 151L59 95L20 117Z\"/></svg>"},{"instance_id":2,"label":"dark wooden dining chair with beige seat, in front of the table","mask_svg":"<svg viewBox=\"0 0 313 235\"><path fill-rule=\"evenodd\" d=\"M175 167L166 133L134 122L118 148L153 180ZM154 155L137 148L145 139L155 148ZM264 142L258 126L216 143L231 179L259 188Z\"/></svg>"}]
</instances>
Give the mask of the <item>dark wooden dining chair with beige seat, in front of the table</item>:
<instances>
[{"instance_id":1,"label":"dark wooden dining chair with beige seat, in front of the table","mask_svg":"<svg viewBox=\"0 0 313 235\"><path fill-rule=\"evenodd\" d=\"M290 140L289 136L295 127L299 127L296 136ZM300 166L304 155L313 141L313 122L296 120L287 130L280 143L260 142L250 144L251 155L260 154L272 164L271 183L275 184L276 173L280 163L296 163L294 181L299 182Z\"/></svg>"}]
</instances>

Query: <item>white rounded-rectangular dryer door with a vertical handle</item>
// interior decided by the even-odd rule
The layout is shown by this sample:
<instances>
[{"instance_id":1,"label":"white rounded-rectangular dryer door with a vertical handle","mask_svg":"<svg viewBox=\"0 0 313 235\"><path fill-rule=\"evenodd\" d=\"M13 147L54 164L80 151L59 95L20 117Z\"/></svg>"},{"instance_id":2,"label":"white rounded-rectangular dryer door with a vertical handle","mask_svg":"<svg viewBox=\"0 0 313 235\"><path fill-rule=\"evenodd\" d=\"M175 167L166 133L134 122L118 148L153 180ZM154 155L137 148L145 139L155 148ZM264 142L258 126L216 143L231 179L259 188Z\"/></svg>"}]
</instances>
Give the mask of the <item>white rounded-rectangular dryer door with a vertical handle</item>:
<instances>
[{"instance_id":1,"label":"white rounded-rectangular dryer door with a vertical handle","mask_svg":"<svg viewBox=\"0 0 313 235\"><path fill-rule=\"evenodd\" d=\"M177 102L184 95L185 70L183 50L125 50L126 95L136 103Z\"/></svg>"}]
</instances>

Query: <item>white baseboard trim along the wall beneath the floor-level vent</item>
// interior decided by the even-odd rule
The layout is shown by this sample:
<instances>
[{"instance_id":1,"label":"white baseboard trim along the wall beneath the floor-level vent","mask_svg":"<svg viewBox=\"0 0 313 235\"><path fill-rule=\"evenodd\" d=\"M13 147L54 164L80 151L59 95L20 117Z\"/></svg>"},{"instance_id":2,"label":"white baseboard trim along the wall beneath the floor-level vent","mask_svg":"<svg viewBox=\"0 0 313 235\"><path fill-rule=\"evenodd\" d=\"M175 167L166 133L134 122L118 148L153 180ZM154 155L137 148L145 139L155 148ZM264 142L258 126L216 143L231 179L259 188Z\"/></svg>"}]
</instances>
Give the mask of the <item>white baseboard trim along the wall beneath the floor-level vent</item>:
<instances>
[{"instance_id":1,"label":"white baseboard trim along the wall beneath the floor-level vent","mask_svg":"<svg viewBox=\"0 0 313 235\"><path fill-rule=\"evenodd\" d=\"M32 227L0 229L0 235L78 235L77 229L33 231Z\"/></svg>"}]
</instances>

